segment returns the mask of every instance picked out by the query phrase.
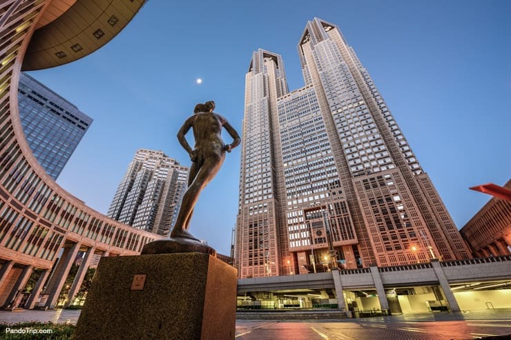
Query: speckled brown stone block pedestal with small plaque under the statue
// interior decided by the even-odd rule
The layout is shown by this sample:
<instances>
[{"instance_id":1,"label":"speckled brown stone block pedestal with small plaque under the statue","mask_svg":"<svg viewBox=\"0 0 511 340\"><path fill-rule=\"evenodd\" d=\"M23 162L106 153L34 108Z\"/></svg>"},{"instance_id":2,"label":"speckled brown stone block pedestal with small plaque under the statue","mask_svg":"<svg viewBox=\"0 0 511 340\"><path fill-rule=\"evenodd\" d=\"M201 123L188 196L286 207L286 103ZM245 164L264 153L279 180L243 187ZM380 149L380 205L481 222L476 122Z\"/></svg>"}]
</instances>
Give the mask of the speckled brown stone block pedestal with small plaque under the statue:
<instances>
[{"instance_id":1,"label":"speckled brown stone block pedestal with small plaque under the statue","mask_svg":"<svg viewBox=\"0 0 511 340\"><path fill-rule=\"evenodd\" d=\"M142 290L135 274L146 274ZM234 339L237 283L209 254L104 257L74 339Z\"/></svg>"}]
</instances>

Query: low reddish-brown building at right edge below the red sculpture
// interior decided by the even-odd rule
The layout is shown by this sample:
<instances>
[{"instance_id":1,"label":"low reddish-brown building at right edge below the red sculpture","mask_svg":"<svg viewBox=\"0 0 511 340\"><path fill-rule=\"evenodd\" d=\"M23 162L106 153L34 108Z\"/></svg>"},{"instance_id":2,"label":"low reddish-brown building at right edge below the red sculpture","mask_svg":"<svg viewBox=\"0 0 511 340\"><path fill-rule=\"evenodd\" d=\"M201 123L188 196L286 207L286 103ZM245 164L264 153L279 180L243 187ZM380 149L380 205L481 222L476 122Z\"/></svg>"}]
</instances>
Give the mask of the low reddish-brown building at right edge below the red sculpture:
<instances>
[{"instance_id":1,"label":"low reddish-brown building at right edge below the red sculpture","mask_svg":"<svg viewBox=\"0 0 511 340\"><path fill-rule=\"evenodd\" d=\"M511 190L511 179L504 188ZM511 254L511 202L493 197L460 232L475 257Z\"/></svg>"}]
</instances>

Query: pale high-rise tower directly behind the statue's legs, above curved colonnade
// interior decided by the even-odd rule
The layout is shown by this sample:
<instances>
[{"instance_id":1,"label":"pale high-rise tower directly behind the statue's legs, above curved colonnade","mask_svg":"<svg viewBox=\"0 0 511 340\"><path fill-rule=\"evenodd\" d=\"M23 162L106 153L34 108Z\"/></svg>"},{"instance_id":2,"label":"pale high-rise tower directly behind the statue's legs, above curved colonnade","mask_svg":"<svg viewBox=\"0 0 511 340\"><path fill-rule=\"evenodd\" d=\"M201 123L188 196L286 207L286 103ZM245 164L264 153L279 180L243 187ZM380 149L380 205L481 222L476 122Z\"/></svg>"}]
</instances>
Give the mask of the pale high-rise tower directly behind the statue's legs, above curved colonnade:
<instances>
[{"instance_id":1,"label":"pale high-rise tower directly behind the statue's legs, above curved colonnade","mask_svg":"<svg viewBox=\"0 0 511 340\"><path fill-rule=\"evenodd\" d=\"M168 235L186 190L188 168L162 151L139 149L117 187L108 217Z\"/></svg>"}]
</instances>

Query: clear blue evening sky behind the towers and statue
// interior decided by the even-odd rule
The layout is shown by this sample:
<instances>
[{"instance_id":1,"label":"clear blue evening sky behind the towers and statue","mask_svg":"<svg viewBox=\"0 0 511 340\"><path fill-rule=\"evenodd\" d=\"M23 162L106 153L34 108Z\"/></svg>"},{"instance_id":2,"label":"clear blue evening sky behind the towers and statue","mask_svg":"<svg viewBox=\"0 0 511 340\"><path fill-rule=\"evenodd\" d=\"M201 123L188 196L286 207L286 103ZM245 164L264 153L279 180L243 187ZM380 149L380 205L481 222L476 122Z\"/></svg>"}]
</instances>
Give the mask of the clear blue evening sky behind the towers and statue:
<instances>
[{"instance_id":1,"label":"clear blue evening sky behind the towers and statue","mask_svg":"<svg viewBox=\"0 0 511 340\"><path fill-rule=\"evenodd\" d=\"M30 72L95 120L57 183L106 213L137 148L189 166L175 136L195 103L214 100L241 132L254 50L281 54L289 89L303 86L296 46L314 17L335 23L353 46L463 227L490 199L467 188L511 177L511 1L150 0L104 48ZM239 170L237 148L191 222L224 254Z\"/></svg>"}]
</instances>

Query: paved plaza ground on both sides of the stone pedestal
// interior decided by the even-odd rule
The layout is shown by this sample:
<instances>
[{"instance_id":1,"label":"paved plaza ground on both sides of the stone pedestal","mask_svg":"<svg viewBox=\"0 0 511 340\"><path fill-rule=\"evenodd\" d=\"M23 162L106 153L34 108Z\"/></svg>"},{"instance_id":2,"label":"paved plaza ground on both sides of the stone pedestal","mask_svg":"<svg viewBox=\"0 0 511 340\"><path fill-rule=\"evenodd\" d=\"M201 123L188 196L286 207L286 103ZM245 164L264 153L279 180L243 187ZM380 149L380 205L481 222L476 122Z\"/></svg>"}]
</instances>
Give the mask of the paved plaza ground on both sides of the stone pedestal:
<instances>
[{"instance_id":1,"label":"paved plaza ground on both sides of the stone pedestal","mask_svg":"<svg viewBox=\"0 0 511 340\"><path fill-rule=\"evenodd\" d=\"M78 310L0 311L0 323L52 321L76 323ZM511 310L405 314L366 319L236 322L237 340L458 340L506 335L511 339Z\"/></svg>"}]
</instances>

